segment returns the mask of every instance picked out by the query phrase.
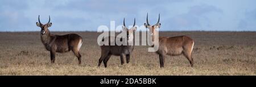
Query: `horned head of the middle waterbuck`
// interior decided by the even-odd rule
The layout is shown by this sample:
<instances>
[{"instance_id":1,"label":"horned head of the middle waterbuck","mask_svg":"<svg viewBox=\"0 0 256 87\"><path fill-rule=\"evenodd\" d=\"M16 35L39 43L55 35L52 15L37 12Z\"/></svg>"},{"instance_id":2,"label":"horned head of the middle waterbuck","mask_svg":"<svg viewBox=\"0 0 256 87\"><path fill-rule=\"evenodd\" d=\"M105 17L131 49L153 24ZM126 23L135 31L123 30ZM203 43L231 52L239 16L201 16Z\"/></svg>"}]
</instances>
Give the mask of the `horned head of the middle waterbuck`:
<instances>
[{"instance_id":1,"label":"horned head of the middle waterbuck","mask_svg":"<svg viewBox=\"0 0 256 87\"><path fill-rule=\"evenodd\" d=\"M123 32L127 32L127 40L128 41L133 41L134 36L133 36L133 32L135 32L137 30L137 27L135 27L135 18L134 18L134 23L133 23L133 27L131 27L130 29L128 29L125 26L125 18L123 18L123 26L122 26Z\"/></svg>"}]
</instances>

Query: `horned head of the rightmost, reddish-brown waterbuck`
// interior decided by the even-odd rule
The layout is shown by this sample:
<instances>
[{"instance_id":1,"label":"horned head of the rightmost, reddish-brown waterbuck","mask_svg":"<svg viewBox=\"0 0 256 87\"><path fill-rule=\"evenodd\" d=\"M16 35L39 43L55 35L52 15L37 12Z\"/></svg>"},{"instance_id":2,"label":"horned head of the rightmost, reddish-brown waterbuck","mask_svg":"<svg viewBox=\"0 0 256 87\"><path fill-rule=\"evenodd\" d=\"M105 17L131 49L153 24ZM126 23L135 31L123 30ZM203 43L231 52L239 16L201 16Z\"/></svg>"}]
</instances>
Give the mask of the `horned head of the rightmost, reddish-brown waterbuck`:
<instances>
[{"instance_id":1,"label":"horned head of the rightmost, reddish-brown waterbuck","mask_svg":"<svg viewBox=\"0 0 256 87\"><path fill-rule=\"evenodd\" d=\"M161 23L160 22L160 14L158 15L158 23L154 24L154 25L150 25L150 23L148 23L148 14L147 14L147 23L144 23L144 26L146 28L148 28L150 30L150 34L152 36L152 41L154 41L154 35L155 35L155 30L159 29L161 27Z\"/></svg>"}]
</instances>

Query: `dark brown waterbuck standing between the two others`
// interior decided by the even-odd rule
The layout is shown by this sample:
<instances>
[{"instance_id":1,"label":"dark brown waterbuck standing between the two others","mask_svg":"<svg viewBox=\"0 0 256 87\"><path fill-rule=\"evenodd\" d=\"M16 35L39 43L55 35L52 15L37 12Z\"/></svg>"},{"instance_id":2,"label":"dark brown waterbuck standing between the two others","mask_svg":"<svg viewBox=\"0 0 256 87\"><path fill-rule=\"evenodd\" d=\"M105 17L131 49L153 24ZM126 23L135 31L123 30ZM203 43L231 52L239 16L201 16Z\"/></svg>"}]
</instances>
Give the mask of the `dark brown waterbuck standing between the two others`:
<instances>
[{"instance_id":1,"label":"dark brown waterbuck standing between the two others","mask_svg":"<svg viewBox=\"0 0 256 87\"><path fill-rule=\"evenodd\" d=\"M130 55L134 49L134 45L129 45L129 44L133 43L133 41L134 41L133 34L137 30L137 27L135 27L135 18L134 18L133 27L130 29L128 29L125 26L125 18L124 18L122 30L123 30L122 32L126 32L127 38L118 38L117 36L108 36L108 37L102 39L102 41L109 40L109 42L106 42L106 43L109 43L109 45L101 45L101 57L98 60L98 67L100 67L101 62L104 61L104 66L106 68L108 60L109 60L110 56L112 56L112 55L120 56L121 64L124 63L123 56L126 56L126 63L130 62ZM112 40L115 41L115 39L124 40L124 41L126 41L127 45L117 45L117 43L112 42ZM111 43L114 43L114 45L110 45Z\"/></svg>"}]
</instances>

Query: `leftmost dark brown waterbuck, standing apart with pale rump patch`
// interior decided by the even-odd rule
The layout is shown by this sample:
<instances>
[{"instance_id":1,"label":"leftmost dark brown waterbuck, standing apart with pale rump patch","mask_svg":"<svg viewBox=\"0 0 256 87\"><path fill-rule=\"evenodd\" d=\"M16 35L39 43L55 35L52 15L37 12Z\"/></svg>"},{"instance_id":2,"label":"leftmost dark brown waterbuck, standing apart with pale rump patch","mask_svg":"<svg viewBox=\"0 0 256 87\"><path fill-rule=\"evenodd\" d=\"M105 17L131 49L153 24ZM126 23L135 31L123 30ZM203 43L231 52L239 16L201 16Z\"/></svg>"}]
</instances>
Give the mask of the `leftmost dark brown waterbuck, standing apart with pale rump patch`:
<instances>
[{"instance_id":1,"label":"leftmost dark brown waterbuck, standing apart with pale rump patch","mask_svg":"<svg viewBox=\"0 0 256 87\"><path fill-rule=\"evenodd\" d=\"M52 26L49 21L47 24L42 24L40 22L40 15L38 16L38 22L36 22L36 26L41 28L41 41L46 47L47 51L51 52L51 63L55 63L55 53L60 52L72 52L76 55L79 60L79 64L81 64L81 55L79 53L79 49L82 45L82 37L77 34L67 34L67 35L53 35L49 32L48 27Z\"/></svg>"}]
</instances>

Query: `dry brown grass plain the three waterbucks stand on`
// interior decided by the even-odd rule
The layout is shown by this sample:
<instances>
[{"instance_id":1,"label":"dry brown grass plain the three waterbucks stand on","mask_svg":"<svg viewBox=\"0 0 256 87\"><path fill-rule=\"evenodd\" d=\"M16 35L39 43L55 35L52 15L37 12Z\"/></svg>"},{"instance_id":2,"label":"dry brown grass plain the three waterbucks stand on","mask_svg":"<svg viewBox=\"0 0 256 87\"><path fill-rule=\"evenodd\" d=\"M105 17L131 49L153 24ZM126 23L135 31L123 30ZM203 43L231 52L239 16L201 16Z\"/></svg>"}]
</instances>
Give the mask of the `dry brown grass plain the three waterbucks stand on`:
<instances>
[{"instance_id":1,"label":"dry brown grass plain the three waterbucks stand on","mask_svg":"<svg viewBox=\"0 0 256 87\"><path fill-rule=\"evenodd\" d=\"M121 65L119 57L112 56L108 68L98 68L100 34L73 33L84 41L81 65L72 52L57 53L56 64L51 64L40 32L0 32L0 75L256 75L256 32L160 32L195 40L193 68L184 56L170 56L160 68L158 55L147 52L146 46L135 47L130 64Z\"/></svg>"}]
</instances>

